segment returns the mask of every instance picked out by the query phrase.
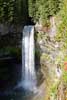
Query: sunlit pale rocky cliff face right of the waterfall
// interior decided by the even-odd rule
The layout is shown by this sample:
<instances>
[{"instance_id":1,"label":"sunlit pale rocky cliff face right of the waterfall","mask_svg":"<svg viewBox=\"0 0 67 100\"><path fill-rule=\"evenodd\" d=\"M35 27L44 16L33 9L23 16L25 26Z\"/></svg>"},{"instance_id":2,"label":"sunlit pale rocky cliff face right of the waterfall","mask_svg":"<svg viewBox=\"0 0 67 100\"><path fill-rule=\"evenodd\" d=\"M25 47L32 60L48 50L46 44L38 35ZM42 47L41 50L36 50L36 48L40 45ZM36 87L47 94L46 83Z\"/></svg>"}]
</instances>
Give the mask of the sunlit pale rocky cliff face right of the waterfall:
<instances>
[{"instance_id":1,"label":"sunlit pale rocky cliff face right of the waterfall","mask_svg":"<svg viewBox=\"0 0 67 100\"><path fill-rule=\"evenodd\" d=\"M62 95L61 92L60 95L62 95L62 97L57 96L59 95L58 88L62 81L62 67L65 53L61 49L63 47L62 43L55 40L56 33L53 34L53 36L50 35L52 34L44 31L39 31L35 34L36 67L39 69L37 73L41 73L44 78L43 80L45 80L45 100L49 100L49 98L50 100L64 98L64 94ZM63 82L61 89L62 88Z\"/></svg>"}]
</instances>

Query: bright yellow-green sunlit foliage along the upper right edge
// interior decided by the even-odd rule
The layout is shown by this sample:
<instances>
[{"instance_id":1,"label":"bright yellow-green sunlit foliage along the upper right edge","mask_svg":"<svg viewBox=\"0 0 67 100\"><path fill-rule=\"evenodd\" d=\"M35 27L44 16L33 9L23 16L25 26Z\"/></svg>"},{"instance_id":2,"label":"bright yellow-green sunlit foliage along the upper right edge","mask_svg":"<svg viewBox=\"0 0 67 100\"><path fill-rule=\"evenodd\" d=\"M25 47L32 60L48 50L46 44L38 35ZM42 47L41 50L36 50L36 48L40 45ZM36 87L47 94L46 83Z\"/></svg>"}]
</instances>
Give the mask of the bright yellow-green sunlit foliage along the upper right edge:
<instances>
[{"instance_id":1,"label":"bright yellow-green sunlit foliage along the upper right edge","mask_svg":"<svg viewBox=\"0 0 67 100\"><path fill-rule=\"evenodd\" d=\"M67 1L63 0L61 10L58 14L60 17L60 24L58 25L58 33L56 35L57 41L63 41L65 46L67 43Z\"/></svg>"}]
</instances>

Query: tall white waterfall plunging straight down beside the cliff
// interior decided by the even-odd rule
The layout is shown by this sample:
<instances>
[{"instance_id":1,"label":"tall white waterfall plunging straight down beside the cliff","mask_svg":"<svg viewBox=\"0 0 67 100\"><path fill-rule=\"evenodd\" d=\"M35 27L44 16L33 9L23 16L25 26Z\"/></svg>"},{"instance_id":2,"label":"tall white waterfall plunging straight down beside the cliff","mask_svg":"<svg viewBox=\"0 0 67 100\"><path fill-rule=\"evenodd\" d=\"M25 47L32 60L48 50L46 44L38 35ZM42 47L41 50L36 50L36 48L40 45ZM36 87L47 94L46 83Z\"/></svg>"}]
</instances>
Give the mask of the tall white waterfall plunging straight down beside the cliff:
<instances>
[{"instance_id":1,"label":"tall white waterfall plunging straight down beside the cliff","mask_svg":"<svg viewBox=\"0 0 67 100\"><path fill-rule=\"evenodd\" d=\"M25 26L22 38L22 86L27 90L35 89L37 83L34 52L34 26Z\"/></svg>"}]
</instances>

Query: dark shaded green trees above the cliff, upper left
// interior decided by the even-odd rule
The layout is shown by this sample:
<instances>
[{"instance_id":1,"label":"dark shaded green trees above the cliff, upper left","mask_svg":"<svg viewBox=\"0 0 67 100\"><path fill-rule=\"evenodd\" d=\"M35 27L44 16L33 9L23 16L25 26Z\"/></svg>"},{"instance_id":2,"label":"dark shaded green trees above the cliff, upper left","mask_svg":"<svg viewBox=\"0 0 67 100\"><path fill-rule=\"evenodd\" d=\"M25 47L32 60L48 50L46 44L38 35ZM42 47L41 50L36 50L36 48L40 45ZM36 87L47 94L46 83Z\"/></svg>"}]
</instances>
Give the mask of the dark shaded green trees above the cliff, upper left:
<instances>
[{"instance_id":1,"label":"dark shaded green trees above the cliff, upper left","mask_svg":"<svg viewBox=\"0 0 67 100\"><path fill-rule=\"evenodd\" d=\"M21 22L27 15L26 0L0 0L0 22Z\"/></svg>"}]
</instances>

